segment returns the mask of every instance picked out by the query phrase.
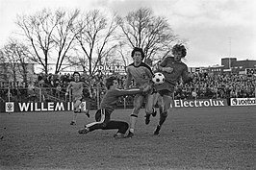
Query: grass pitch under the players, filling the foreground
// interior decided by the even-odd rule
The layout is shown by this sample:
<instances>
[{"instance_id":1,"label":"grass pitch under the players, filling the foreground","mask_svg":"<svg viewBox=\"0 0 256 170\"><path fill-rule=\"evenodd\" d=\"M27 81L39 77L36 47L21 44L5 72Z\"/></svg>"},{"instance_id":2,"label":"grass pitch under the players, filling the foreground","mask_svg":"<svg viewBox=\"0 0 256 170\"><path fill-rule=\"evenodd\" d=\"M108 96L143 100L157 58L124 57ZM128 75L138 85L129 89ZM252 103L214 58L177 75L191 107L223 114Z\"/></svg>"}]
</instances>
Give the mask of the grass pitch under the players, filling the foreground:
<instances>
[{"instance_id":1,"label":"grass pitch under the players, filling the foreground","mask_svg":"<svg viewBox=\"0 0 256 170\"><path fill-rule=\"evenodd\" d=\"M126 120L132 109L115 109ZM159 114L144 124L139 114L134 138L116 131L78 134L94 121L72 112L0 113L0 169L256 169L256 107L172 109L159 135Z\"/></svg>"}]
</instances>

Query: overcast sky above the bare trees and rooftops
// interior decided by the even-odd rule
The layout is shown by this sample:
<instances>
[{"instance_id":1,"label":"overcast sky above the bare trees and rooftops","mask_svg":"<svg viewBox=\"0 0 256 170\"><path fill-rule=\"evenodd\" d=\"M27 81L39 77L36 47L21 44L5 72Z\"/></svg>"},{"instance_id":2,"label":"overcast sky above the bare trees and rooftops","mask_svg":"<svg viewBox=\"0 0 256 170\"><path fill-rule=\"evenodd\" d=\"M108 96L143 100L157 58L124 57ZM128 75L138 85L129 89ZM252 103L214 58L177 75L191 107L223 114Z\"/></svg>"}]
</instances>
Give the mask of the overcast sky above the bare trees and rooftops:
<instances>
[{"instance_id":1,"label":"overcast sky above the bare trees and rooftops","mask_svg":"<svg viewBox=\"0 0 256 170\"><path fill-rule=\"evenodd\" d=\"M141 7L166 16L174 33L188 39L188 66L220 64L224 57L256 60L255 0L0 0L0 46L15 36L17 14L64 8L126 15Z\"/></svg>"}]
</instances>

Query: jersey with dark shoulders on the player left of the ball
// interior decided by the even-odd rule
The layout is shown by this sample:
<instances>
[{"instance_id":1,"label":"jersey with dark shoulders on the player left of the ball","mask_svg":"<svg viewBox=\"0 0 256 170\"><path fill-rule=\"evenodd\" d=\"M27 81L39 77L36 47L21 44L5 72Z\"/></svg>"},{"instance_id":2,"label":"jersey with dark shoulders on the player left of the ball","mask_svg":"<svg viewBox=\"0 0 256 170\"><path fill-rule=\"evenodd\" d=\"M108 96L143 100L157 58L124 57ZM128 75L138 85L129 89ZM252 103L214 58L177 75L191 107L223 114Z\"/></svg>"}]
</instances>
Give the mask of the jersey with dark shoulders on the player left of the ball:
<instances>
[{"instance_id":1,"label":"jersey with dark shoulders on the player left of the ball","mask_svg":"<svg viewBox=\"0 0 256 170\"><path fill-rule=\"evenodd\" d=\"M128 77L134 79L137 87L148 85L153 76L151 68L144 62L141 62L138 66L135 66L134 62L131 63L127 66L126 72Z\"/></svg>"}]
</instances>

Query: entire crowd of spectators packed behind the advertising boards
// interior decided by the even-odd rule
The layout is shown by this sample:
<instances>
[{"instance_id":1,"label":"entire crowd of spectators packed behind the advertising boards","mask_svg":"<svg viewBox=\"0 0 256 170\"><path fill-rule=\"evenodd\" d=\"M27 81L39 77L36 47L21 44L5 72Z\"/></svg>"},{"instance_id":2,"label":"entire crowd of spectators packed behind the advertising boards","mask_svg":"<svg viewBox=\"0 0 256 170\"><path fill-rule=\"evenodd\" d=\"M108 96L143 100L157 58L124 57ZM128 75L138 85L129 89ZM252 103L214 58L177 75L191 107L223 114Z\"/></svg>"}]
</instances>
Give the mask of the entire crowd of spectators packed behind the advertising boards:
<instances>
[{"instance_id":1,"label":"entire crowd of spectators packed behind the advertising boards","mask_svg":"<svg viewBox=\"0 0 256 170\"><path fill-rule=\"evenodd\" d=\"M246 98L255 97L255 76L246 75L210 75L208 73L196 73L193 81L189 84L179 82L176 85L174 99L197 99L197 98ZM124 87L125 75L116 74L120 87ZM104 79L107 75L97 74L88 76L82 74L82 81L90 85L90 90L85 90L85 96L90 96L91 100L100 99L99 96L104 94ZM68 101L64 93L66 86L72 80L72 75L64 74L39 74L35 82L29 82L28 85L13 86L9 85L10 93L7 87L2 87L0 90L2 101L7 101L8 98L20 101L28 99L29 102L39 101L38 95L42 96L41 101L45 100L62 100ZM41 91L40 91L41 89ZM86 88L87 89L87 88ZM91 94L91 95L89 95ZM52 96L51 99L45 96ZM132 99L130 99L132 100Z\"/></svg>"}]
</instances>

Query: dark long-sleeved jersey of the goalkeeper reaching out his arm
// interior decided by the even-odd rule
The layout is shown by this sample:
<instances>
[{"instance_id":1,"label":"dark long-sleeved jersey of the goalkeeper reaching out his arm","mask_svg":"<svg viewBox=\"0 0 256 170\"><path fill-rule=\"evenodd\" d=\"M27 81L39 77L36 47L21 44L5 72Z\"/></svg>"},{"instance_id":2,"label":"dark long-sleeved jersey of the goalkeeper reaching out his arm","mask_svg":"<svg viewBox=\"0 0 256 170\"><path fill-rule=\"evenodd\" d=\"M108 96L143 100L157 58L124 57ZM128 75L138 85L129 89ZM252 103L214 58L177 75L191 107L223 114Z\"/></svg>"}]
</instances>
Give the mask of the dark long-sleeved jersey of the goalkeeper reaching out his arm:
<instances>
[{"instance_id":1,"label":"dark long-sleeved jersey of the goalkeeper reaching out his arm","mask_svg":"<svg viewBox=\"0 0 256 170\"><path fill-rule=\"evenodd\" d=\"M118 101L118 97L133 95L141 92L139 88L131 89L109 89L106 94L103 96L103 99L100 103L100 109L108 109L110 112L113 112Z\"/></svg>"}]
</instances>

